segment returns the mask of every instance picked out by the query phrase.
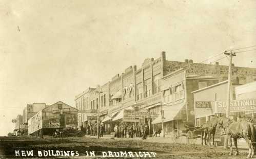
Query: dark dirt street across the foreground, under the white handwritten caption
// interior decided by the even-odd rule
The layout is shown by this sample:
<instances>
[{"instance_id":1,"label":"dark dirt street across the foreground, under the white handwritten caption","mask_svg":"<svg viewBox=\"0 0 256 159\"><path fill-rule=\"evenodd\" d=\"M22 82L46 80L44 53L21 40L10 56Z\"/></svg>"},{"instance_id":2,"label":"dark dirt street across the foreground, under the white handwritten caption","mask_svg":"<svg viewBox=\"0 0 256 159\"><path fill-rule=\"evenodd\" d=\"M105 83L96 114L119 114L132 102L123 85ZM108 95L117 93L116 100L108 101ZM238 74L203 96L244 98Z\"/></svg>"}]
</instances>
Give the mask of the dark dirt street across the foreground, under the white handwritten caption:
<instances>
[{"instance_id":1,"label":"dark dirt street across the foreground, under the white handwritten caption","mask_svg":"<svg viewBox=\"0 0 256 159\"><path fill-rule=\"evenodd\" d=\"M33 150L33 156L28 156L30 150ZM44 156L44 150L47 151L47 154L45 152L46 156ZM65 156L64 151L66 154L69 153L69 156ZM91 154L92 151L95 151L95 156ZM108 151L112 151L112 153ZM42 152L42 156L40 156L39 152ZM132 155L128 152L132 153ZM22 156L22 154L26 156ZM228 150L222 147L213 148L201 145L153 143L143 140L95 139L88 137L58 139L51 137L44 139L31 137L0 137L0 158L103 158L103 156L108 158L153 158L155 155L154 158L226 159L246 158L246 154L247 150L245 149L240 150L239 156L229 156ZM113 157L113 155L119 155L119 157Z\"/></svg>"}]
</instances>

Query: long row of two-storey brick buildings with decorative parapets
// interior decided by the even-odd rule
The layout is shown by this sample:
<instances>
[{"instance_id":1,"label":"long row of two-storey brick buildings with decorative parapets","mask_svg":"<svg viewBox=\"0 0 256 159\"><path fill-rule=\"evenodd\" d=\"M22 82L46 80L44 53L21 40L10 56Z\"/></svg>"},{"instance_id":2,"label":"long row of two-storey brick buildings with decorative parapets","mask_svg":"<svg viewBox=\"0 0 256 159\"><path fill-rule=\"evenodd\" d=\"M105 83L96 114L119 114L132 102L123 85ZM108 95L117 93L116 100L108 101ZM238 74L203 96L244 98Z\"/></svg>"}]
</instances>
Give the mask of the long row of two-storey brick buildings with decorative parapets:
<instances>
[{"instance_id":1,"label":"long row of two-storey brick buildings with decorative parapets","mask_svg":"<svg viewBox=\"0 0 256 159\"><path fill-rule=\"evenodd\" d=\"M185 120L194 121L194 99L191 92L224 81L227 77L228 66L219 65L218 62L204 64L187 59L184 62L169 61L166 60L166 53L162 52L159 58L145 59L139 69L137 66L129 66L124 73L115 75L111 81L97 88L106 90L102 94L106 95L106 106L100 107L101 121L110 128L109 131L112 131L113 123L125 122L124 109L134 110L134 107L161 116L161 109L164 109L162 106L166 104L165 100L170 98L166 91L169 87L173 89L173 96L166 105L182 103L178 105L185 108ZM256 69L233 66L233 83L244 84L255 79ZM91 110L96 109L99 94L91 92L89 98ZM104 99L104 97L100 98ZM174 112L167 110L164 112L165 118L169 118ZM153 118L140 119L141 123L149 125L150 133L153 132L153 120ZM134 119L135 121L137 120Z\"/></svg>"}]
</instances>

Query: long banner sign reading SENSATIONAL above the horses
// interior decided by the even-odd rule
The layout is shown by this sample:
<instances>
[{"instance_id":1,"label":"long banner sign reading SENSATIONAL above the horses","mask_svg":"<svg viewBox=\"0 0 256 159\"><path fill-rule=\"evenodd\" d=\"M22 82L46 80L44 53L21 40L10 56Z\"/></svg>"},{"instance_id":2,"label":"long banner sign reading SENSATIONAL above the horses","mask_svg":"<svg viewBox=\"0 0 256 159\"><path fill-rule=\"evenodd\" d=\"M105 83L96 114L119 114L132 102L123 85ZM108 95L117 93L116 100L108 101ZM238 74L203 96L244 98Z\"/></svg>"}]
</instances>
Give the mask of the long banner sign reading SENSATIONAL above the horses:
<instances>
[{"instance_id":1,"label":"long banner sign reading SENSATIONAL above the horses","mask_svg":"<svg viewBox=\"0 0 256 159\"><path fill-rule=\"evenodd\" d=\"M215 113L226 112L227 102L216 102ZM230 111L252 111L256 110L256 99L232 100Z\"/></svg>"}]
</instances>

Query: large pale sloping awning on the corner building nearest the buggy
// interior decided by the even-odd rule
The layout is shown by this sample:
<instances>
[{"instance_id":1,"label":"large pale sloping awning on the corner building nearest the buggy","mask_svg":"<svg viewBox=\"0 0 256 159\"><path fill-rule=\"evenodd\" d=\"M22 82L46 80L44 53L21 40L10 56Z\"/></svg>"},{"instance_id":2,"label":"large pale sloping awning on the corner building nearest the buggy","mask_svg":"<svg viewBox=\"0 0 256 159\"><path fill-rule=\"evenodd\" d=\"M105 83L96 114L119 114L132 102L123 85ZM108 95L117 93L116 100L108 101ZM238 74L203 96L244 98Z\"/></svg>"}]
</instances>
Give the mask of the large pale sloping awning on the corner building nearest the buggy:
<instances>
[{"instance_id":1,"label":"large pale sloping awning on the corner building nearest the buggy","mask_svg":"<svg viewBox=\"0 0 256 159\"><path fill-rule=\"evenodd\" d=\"M172 120L182 119L184 103L178 105L172 105L164 109L164 122ZM162 116L159 116L153 120L152 124L162 123Z\"/></svg>"}]
</instances>

